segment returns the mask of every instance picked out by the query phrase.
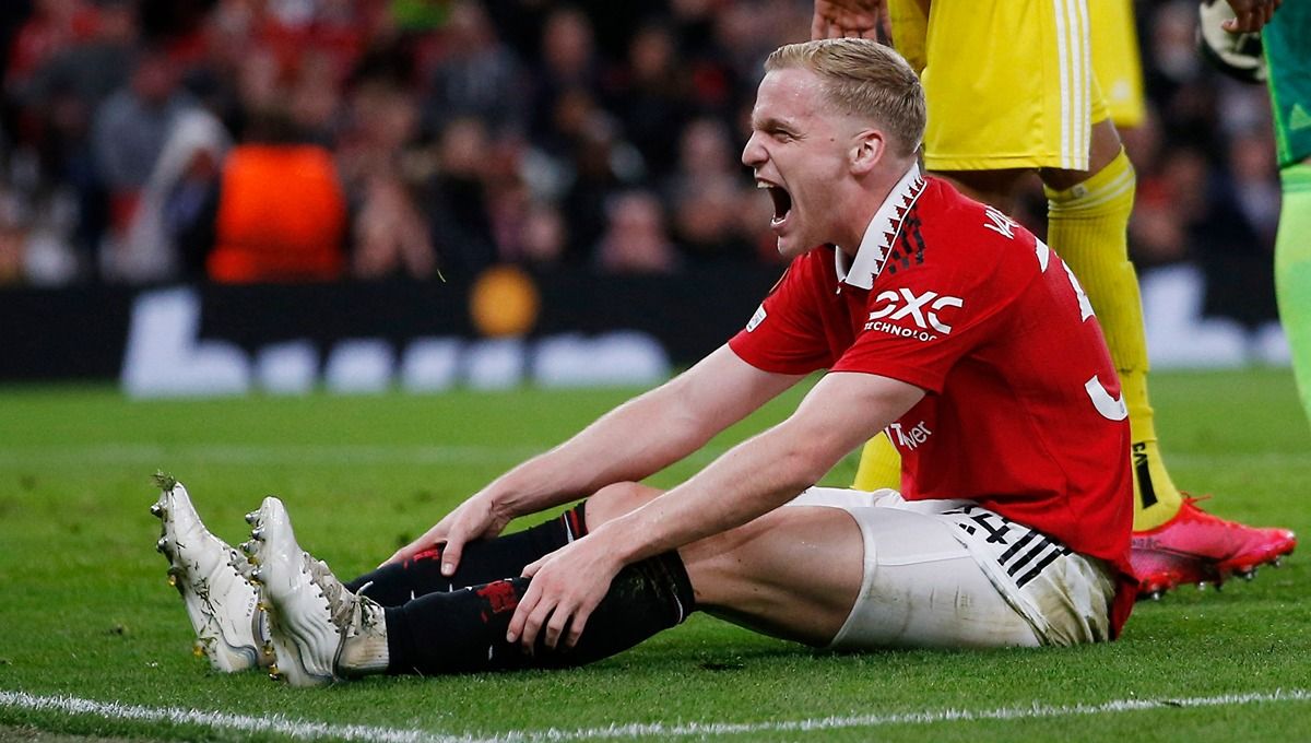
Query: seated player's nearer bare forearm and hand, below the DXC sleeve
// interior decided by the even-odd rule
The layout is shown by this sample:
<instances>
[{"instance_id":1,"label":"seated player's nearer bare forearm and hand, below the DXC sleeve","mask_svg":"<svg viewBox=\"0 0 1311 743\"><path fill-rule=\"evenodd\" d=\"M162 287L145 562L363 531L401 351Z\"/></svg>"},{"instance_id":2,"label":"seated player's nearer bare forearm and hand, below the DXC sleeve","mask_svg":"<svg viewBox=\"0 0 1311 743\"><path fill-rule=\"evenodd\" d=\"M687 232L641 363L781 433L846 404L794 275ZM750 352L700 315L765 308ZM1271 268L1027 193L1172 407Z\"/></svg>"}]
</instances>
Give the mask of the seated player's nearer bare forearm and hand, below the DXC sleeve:
<instances>
[{"instance_id":1,"label":"seated player's nearer bare forearm and hand, below the DXC sleeve","mask_svg":"<svg viewBox=\"0 0 1311 743\"><path fill-rule=\"evenodd\" d=\"M595 527L524 569L532 583L510 621L531 647L577 642L619 570L732 529L791 501L848 452L910 410L924 391L867 373L830 373L787 421L734 447L687 482Z\"/></svg>"}]
</instances>

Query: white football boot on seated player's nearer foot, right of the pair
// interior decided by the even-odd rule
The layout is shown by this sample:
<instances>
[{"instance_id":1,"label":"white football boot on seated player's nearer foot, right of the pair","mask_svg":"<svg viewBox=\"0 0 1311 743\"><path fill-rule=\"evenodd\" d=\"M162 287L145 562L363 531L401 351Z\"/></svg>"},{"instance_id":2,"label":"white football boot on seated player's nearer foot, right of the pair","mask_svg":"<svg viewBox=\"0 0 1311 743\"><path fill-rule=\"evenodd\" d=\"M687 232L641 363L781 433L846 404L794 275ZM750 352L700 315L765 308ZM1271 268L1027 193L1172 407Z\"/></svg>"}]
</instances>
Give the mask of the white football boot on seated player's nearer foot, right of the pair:
<instances>
[{"instance_id":1,"label":"white football boot on seated player's nearer foot, right of the pair","mask_svg":"<svg viewBox=\"0 0 1311 743\"><path fill-rule=\"evenodd\" d=\"M282 501L265 498L246 520L253 528L241 548L256 563L252 577L278 655L270 675L316 687L387 671L383 607L347 591L328 563L300 549Z\"/></svg>"}]
</instances>

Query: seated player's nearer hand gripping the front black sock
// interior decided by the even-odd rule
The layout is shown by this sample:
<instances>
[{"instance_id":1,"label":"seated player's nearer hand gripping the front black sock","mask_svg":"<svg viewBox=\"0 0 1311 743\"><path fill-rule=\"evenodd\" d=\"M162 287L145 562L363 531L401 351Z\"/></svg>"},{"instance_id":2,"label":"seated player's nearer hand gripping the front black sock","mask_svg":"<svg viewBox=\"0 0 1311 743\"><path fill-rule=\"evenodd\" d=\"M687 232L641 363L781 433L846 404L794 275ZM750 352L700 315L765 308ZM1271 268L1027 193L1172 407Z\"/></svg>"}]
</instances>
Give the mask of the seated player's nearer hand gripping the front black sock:
<instances>
[{"instance_id":1,"label":"seated player's nearer hand gripping the front black sock","mask_svg":"<svg viewBox=\"0 0 1311 743\"><path fill-rule=\"evenodd\" d=\"M528 565L523 575L532 582L510 617L506 641L518 641L524 653L531 654L538 634L545 630L547 647L573 647L623 566L614 550L606 549L594 536L585 536Z\"/></svg>"}]
</instances>

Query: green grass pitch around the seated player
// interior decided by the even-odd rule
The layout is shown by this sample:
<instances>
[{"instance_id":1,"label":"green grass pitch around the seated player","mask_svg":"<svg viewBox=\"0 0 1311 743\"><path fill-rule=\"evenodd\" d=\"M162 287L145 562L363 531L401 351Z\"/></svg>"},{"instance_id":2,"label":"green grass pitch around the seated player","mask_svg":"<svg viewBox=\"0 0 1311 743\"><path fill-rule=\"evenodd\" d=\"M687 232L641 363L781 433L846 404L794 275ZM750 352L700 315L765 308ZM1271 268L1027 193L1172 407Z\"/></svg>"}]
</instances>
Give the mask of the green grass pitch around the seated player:
<instances>
[{"instance_id":1,"label":"green grass pitch around the seated player","mask_svg":"<svg viewBox=\"0 0 1311 743\"><path fill-rule=\"evenodd\" d=\"M0 391L0 693L490 736L1311 689L1311 562L1303 556L1219 594L1189 588L1139 604L1120 642L1072 650L815 654L696 616L617 658L564 672L374 679L302 691L254 674L216 675L191 657L181 601L153 550L159 523L147 510L156 468L182 480L210 527L232 541L244 539L241 515L264 494L279 494L302 544L353 574L629 393L131 402L109 389ZM781 418L797 398L777 401L712 449ZM1156 375L1154 404L1176 480L1217 493L1213 511L1311 533L1311 435L1290 375ZM694 457L653 481L670 485L705 461ZM853 470L848 460L830 482L847 482ZM13 705L0 705L0 726L282 739ZM728 736L1269 742L1308 731L1311 704L1302 698Z\"/></svg>"}]
</instances>

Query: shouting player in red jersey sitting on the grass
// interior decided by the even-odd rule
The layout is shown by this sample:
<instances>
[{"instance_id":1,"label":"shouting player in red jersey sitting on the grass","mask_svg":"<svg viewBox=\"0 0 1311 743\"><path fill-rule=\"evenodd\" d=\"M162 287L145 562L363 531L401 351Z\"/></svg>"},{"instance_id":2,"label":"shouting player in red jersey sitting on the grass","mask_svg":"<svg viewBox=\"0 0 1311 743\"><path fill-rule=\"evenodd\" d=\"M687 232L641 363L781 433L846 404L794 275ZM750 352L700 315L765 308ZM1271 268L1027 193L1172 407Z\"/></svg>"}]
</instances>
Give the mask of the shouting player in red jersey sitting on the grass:
<instances>
[{"instance_id":1,"label":"shouting player in red jersey sitting on the grass","mask_svg":"<svg viewBox=\"0 0 1311 743\"><path fill-rule=\"evenodd\" d=\"M815 41L766 71L742 161L792 263L695 367L345 584L302 550L277 498L248 516L248 563L161 482L160 549L216 667L275 657L311 685L577 666L695 609L851 650L1118 634L1135 591L1129 425L1074 275L920 174L924 97L897 52ZM682 485L635 482L822 368L787 421ZM813 487L880 430L902 448L902 493Z\"/></svg>"}]
</instances>

